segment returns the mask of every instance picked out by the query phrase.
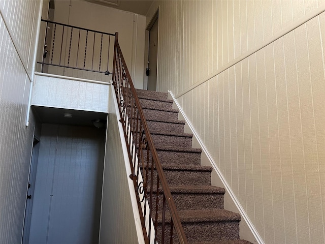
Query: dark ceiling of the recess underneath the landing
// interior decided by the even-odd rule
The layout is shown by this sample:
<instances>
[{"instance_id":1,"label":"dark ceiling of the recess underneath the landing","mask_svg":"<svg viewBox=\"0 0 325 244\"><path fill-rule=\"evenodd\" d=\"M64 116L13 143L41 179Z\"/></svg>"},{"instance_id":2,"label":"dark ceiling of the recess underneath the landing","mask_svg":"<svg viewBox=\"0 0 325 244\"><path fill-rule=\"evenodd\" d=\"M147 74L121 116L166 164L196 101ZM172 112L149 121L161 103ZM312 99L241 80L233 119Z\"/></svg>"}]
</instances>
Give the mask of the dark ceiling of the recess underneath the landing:
<instances>
[{"instance_id":1,"label":"dark ceiling of the recess underneath the landing","mask_svg":"<svg viewBox=\"0 0 325 244\"><path fill-rule=\"evenodd\" d=\"M94 126L93 119L107 120L107 113L82 111L64 108L52 108L42 106L31 106L41 123L63 124L75 126ZM71 114L72 117L64 117L64 114Z\"/></svg>"}]
</instances>

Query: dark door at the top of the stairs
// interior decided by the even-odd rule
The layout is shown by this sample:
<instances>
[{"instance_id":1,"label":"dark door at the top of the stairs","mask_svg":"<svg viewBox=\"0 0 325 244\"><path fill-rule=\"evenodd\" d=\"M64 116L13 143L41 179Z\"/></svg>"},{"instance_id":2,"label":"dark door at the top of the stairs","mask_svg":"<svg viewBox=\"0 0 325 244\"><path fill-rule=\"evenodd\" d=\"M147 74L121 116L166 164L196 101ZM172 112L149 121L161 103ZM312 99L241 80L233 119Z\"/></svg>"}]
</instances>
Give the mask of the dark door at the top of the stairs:
<instances>
[{"instance_id":1,"label":"dark door at the top of the stairs","mask_svg":"<svg viewBox=\"0 0 325 244\"><path fill-rule=\"evenodd\" d=\"M157 90L158 18L149 30L148 90ZM148 74L149 73L149 74Z\"/></svg>"}]
</instances>

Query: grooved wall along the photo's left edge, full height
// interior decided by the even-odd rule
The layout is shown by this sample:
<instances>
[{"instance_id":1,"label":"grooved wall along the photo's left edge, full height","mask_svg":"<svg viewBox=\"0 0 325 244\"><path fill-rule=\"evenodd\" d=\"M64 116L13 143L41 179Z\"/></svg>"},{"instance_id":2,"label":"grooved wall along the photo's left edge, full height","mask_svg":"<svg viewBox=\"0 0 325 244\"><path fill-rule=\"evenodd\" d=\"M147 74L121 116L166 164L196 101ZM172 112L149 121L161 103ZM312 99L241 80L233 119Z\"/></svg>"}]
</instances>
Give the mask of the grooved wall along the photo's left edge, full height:
<instances>
[{"instance_id":1,"label":"grooved wall along the photo's left edge, full height","mask_svg":"<svg viewBox=\"0 0 325 244\"><path fill-rule=\"evenodd\" d=\"M4 244L21 243L22 238L35 128L32 113L25 126L31 84L27 74L32 70L40 5L41 1L0 1L0 243Z\"/></svg>"}]
</instances>

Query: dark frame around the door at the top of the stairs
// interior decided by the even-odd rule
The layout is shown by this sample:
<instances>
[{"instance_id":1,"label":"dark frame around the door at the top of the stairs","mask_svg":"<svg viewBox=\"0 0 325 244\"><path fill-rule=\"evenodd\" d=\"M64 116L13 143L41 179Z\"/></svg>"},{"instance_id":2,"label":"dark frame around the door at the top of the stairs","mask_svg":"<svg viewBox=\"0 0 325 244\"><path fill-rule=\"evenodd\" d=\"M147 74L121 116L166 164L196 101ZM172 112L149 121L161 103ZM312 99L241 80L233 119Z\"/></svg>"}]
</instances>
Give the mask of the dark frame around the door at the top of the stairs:
<instances>
[{"instance_id":1,"label":"dark frame around the door at the top of the stairs","mask_svg":"<svg viewBox=\"0 0 325 244\"><path fill-rule=\"evenodd\" d=\"M151 20L149 21L146 27L146 36L145 36L145 54L144 54L144 69L148 67L148 60L149 60L149 33L150 29L152 28L155 21L158 21L158 47L157 47L157 74L158 74L158 60L159 60L159 7L157 8L156 12L153 14ZM158 77L156 80L156 87L158 87ZM148 76L146 72L144 72L144 79L143 79L143 89L148 89Z\"/></svg>"}]
</instances>

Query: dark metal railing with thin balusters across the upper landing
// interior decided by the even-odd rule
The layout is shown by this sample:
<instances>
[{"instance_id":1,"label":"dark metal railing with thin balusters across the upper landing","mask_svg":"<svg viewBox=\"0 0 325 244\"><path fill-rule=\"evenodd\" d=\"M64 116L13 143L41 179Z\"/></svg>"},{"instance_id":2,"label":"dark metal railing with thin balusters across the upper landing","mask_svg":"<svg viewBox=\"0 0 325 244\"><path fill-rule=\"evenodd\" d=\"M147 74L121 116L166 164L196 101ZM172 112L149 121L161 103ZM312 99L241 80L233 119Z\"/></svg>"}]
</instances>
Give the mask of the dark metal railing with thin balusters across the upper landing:
<instances>
[{"instance_id":1,"label":"dark metal railing with thin balusters across the upper landing","mask_svg":"<svg viewBox=\"0 0 325 244\"><path fill-rule=\"evenodd\" d=\"M115 34L93 31L42 19L46 23L41 72L45 67L61 67L112 74ZM59 68L57 68L59 69ZM112 71L112 70L111 70Z\"/></svg>"}]
</instances>

